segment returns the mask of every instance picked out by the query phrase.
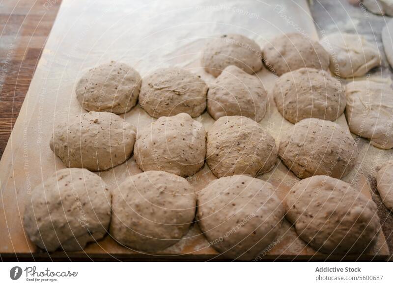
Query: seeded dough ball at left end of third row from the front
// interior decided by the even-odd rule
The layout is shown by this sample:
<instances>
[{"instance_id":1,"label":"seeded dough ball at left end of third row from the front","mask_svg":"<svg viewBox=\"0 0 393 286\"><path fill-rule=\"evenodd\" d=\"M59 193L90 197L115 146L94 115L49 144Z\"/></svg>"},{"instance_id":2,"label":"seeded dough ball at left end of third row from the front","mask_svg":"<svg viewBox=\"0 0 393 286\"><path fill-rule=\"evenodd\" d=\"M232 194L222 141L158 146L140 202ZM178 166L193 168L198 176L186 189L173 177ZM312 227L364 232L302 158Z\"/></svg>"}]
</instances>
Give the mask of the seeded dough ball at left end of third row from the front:
<instances>
[{"instance_id":1,"label":"seeded dough ball at left end of third row from the front","mask_svg":"<svg viewBox=\"0 0 393 286\"><path fill-rule=\"evenodd\" d=\"M140 74L129 65L111 61L84 73L75 92L87 111L123 114L137 104L141 81Z\"/></svg>"}]
</instances>

